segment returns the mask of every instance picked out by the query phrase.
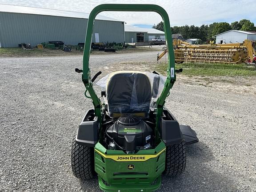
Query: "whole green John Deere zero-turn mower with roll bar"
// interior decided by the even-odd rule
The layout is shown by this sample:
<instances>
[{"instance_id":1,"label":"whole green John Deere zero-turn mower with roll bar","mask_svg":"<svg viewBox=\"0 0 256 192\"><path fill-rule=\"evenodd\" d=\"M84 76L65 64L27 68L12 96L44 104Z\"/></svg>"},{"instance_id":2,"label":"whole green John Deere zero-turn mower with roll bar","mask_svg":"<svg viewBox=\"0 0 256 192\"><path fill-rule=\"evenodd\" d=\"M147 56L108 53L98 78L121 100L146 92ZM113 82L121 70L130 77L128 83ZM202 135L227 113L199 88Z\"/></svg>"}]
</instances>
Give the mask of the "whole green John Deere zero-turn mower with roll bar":
<instances>
[{"instance_id":1,"label":"whole green John Deere zero-turn mower with roll bar","mask_svg":"<svg viewBox=\"0 0 256 192\"><path fill-rule=\"evenodd\" d=\"M172 44L168 14L158 5L102 4L88 19L82 81L94 109L82 119L72 143L72 171L80 179L96 176L106 192L151 192L161 185L161 174L176 176L186 165L185 144L198 141L196 133L180 125L164 107L176 75L174 52L168 50L167 77L149 72L113 72L97 82L101 103L93 89L89 55L93 23L102 11L154 11L164 20L165 37ZM90 96L88 96L88 93Z\"/></svg>"}]
</instances>

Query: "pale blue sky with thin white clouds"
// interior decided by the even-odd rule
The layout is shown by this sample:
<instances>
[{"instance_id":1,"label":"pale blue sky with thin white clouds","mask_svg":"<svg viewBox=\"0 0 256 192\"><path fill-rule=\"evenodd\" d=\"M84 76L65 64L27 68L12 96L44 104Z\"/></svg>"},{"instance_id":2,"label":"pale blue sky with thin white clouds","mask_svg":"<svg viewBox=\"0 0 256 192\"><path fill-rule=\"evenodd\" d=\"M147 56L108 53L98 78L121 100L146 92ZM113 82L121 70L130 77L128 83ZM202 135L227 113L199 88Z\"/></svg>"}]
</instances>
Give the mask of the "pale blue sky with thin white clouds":
<instances>
[{"instance_id":1,"label":"pale blue sky with thin white clouds","mask_svg":"<svg viewBox=\"0 0 256 192\"><path fill-rule=\"evenodd\" d=\"M157 4L168 13L171 26L200 26L213 22L251 20L256 25L256 0L0 0L0 4L89 13L99 4ZM0 5L1 6L1 5ZM151 28L162 19L155 12L101 12L127 25Z\"/></svg>"}]
</instances>

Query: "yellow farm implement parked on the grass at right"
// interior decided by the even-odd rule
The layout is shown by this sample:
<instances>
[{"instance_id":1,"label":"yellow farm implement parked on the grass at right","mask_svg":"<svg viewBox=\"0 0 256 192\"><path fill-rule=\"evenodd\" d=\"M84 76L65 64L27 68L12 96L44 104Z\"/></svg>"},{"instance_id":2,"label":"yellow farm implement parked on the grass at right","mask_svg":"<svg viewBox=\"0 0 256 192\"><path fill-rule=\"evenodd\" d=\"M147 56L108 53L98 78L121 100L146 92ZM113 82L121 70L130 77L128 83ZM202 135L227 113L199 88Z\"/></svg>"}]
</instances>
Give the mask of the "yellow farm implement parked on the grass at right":
<instances>
[{"instance_id":1,"label":"yellow farm implement parked on the grass at right","mask_svg":"<svg viewBox=\"0 0 256 192\"><path fill-rule=\"evenodd\" d=\"M173 40L175 62L214 62L242 64L256 63L254 42L244 40L243 43L233 44L189 44L182 40ZM167 46L158 54L157 61L168 52Z\"/></svg>"}]
</instances>

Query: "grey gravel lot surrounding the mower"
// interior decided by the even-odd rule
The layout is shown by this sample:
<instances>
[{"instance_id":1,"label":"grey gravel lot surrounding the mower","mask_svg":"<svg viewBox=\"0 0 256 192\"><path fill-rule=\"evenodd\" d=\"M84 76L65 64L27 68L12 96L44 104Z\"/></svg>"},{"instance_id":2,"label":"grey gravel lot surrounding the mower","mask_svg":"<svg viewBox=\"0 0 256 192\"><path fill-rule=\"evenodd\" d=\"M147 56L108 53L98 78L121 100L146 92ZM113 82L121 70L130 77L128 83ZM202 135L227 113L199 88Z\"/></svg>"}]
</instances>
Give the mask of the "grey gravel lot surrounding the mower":
<instances>
[{"instance_id":1,"label":"grey gravel lot surrounding the mower","mask_svg":"<svg viewBox=\"0 0 256 192\"><path fill-rule=\"evenodd\" d=\"M92 74L125 68L113 63L127 60L144 60L140 69L147 68L156 54L93 55ZM74 72L81 61L82 56L0 58L1 192L100 191L96 179L82 182L71 170L72 136L92 107ZM256 191L255 86L241 91L244 85L204 86L191 79L178 76L166 106L196 130L200 142L187 147L184 174L163 177L158 191Z\"/></svg>"}]
</instances>

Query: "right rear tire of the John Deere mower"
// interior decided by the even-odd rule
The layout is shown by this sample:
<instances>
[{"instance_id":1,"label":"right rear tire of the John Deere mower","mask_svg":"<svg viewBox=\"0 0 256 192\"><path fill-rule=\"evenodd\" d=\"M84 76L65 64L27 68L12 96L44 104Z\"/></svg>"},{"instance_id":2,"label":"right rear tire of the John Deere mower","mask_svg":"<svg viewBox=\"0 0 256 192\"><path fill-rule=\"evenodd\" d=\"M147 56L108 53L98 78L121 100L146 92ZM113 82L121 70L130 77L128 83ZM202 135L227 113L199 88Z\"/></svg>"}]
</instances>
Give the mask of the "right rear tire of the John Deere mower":
<instances>
[{"instance_id":1,"label":"right rear tire of the John Deere mower","mask_svg":"<svg viewBox=\"0 0 256 192\"><path fill-rule=\"evenodd\" d=\"M186 167L186 146L183 140L179 144L166 147L165 171L166 176L178 176Z\"/></svg>"}]
</instances>

